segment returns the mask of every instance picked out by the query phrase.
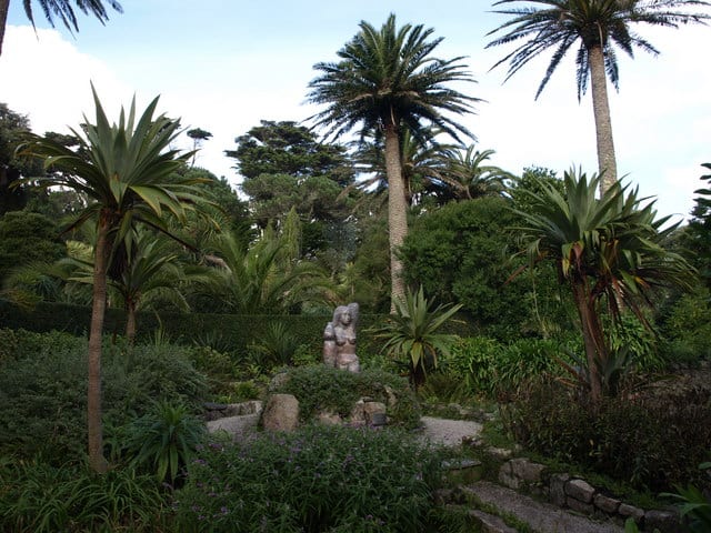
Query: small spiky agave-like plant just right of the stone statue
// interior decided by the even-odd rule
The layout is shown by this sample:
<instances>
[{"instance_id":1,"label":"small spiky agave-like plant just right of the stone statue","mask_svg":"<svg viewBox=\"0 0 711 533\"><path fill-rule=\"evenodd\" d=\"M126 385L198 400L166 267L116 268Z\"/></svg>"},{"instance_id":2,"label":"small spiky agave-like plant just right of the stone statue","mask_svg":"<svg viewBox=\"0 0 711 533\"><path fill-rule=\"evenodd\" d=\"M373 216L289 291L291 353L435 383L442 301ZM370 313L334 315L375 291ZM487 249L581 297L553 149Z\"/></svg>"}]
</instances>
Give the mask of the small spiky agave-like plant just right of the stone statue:
<instances>
[{"instance_id":1,"label":"small spiky agave-like plant just right of the stone statue","mask_svg":"<svg viewBox=\"0 0 711 533\"><path fill-rule=\"evenodd\" d=\"M439 330L460 309L461 304L434 308L420 286L415 294L407 290L404 301L397 301L395 314L373 330L377 339L385 341L382 349L388 355L405 361L415 388L424 383L428 369L437 368L439 356L449 354L457 335Z\"/></svg>"}]
</instances>

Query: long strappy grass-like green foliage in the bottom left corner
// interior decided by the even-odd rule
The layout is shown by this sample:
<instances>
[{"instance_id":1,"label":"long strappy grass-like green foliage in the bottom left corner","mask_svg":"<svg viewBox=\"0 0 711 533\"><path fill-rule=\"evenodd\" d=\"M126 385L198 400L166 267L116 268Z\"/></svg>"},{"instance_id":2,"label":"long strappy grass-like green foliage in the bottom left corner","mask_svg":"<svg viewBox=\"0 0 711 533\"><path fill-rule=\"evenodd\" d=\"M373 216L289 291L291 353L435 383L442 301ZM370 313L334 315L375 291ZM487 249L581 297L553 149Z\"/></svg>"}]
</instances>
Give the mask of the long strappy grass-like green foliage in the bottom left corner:
<instances>
[{"instance_id":1,"label":"long strappy grass-like green foliage in the bottom left corner","mask_svg":"<svg viewBox=\"0 0 711 533\"><path fill-rule=\"evenodd\" d=\"M87 465L7 461L0 486L1 531L166 531L166 494L154 476L131 469L96 475Z\"/></svg>"}]
</instances>

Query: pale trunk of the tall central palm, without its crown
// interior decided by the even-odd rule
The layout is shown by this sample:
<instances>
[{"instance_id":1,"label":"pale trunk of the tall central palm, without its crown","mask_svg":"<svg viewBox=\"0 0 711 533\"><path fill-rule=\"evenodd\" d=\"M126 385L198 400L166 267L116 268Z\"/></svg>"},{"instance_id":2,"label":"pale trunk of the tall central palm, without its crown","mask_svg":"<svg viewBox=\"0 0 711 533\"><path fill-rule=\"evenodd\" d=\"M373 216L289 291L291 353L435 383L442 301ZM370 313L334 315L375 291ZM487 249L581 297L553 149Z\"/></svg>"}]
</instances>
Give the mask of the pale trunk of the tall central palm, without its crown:
<instances>
[{"instance_id":1,"label":"pale trunk of the tall central palm, without its crown","mask_svg":"<svg viewBox=\"0 0 711 533\"><path fill-rule=\"evenodd\" d=\"M408 234L408 201L400 161L400 135L395 125L385 128L385 173L388 174L388 230L390 239L390 312L394 313L395 302L404 300L402 261L398 258L398 250Z\"/></svg>"}]
</instances>

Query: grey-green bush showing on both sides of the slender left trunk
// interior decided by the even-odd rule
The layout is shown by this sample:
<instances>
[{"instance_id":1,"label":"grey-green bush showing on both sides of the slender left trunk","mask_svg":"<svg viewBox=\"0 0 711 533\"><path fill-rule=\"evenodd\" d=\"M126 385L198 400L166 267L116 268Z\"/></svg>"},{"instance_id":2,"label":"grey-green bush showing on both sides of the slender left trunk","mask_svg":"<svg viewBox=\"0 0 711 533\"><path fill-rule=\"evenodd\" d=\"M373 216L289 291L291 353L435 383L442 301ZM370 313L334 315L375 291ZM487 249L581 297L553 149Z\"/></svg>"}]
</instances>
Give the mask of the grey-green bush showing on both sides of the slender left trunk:
<instances>
[{"instance_id":1,"label":"grey-green bush showing on both sides of the slender left trunk","mask_svg":"<svg viewBox=\"0 0 711 533\"><path fill-rule=\"evenodd\" d=\"M18 339L21 356L0 366L0 453L29 457L42 452L62 462L82 456L86 340L69 341L60 333ZM113 426L144 414L157 399L197 408L207 394L204 376L179 346L140 345L130 352L107 346L102 363L104 419Z\"/></svg>"}]
</instances>

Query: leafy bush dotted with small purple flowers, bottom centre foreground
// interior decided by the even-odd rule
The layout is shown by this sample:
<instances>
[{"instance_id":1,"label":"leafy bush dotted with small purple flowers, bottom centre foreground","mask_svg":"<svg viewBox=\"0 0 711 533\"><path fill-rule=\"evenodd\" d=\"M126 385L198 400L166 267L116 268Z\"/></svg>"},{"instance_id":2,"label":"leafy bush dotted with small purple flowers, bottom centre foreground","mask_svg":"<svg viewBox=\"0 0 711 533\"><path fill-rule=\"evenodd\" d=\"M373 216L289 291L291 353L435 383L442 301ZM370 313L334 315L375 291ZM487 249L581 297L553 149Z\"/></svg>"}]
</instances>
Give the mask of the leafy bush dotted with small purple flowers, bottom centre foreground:
<instances>
[{"instance_id":1,"label":"leafy bush dotted with small purple flowers, bottom centre foreground","mask_svg":"<svg viewBox=\"0 0 711 533\"><path fill-rule=\"evenodd\" d=\"M418 532L440 459L389 430L306 426L210 445L176 495L181 531Z\"/></svg>"}]
</instances>

